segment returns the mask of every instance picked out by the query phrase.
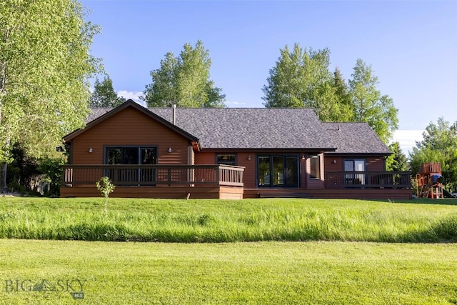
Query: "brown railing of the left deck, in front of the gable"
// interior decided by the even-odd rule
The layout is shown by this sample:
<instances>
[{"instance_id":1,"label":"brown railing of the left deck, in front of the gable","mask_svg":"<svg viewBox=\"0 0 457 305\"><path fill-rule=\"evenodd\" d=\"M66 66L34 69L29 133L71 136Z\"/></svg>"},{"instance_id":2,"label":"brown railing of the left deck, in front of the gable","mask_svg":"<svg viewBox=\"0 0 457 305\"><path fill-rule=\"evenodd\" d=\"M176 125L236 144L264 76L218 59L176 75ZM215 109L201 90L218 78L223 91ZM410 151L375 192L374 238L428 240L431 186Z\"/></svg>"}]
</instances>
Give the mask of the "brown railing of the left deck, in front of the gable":
<instances>
[{"instance_id":1,"label":"brown railing of the left deck, in front of the gable","mask_svg":"<svg viewBox=\"0 0 457 305\"><path fill-rule=\"evenodd\" d=\"M62 186L95 185L108 176L116 186L243 186L242 166L230 165L64 165Z\"/></svg>"}]
</instances>

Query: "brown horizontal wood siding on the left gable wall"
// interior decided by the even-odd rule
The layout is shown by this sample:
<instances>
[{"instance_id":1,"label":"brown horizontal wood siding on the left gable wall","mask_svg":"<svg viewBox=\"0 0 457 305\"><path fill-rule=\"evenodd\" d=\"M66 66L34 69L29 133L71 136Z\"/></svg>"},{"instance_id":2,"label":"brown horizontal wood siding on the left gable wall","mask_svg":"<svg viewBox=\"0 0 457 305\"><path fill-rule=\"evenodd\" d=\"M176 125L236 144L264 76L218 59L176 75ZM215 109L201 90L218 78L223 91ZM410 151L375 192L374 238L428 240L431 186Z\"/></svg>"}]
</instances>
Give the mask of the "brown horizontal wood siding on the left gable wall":
<instances>
[{"instance_id":1,"label":"brown horizontal wood siding on the left gable wall","mask_svg":"<svg viewBox=\"0 0 457 305\"><path fill-rule=\"evenodd\" d=\"M76 136L71 144L72 161L104 164L104 146L127 145L157 146L158 164L189 164L189 140L133 108L124 109Z\"/></svg>"}]
</instances>

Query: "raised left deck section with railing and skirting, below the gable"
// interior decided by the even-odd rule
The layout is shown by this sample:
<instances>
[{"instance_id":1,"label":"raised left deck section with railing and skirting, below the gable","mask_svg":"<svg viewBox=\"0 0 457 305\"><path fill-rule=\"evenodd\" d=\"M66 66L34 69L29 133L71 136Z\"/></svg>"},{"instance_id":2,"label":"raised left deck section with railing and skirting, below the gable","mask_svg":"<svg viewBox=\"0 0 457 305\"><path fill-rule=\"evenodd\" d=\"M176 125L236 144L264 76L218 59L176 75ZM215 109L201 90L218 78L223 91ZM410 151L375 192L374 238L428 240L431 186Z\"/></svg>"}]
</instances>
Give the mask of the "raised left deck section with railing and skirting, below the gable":
<instances>
[{"instance_id":1,"label":"raised left deck section with railing and skirting, below the gable","mask_svg":"<svg viewBox=\"0 0 457 305\"><path fill-rule=\"evenodd\" d=\"M229 165L67 165L61 197L97 197L96 181L108 176L111 197L243 199L241 166Z\"/></svg>"}]
</instances>

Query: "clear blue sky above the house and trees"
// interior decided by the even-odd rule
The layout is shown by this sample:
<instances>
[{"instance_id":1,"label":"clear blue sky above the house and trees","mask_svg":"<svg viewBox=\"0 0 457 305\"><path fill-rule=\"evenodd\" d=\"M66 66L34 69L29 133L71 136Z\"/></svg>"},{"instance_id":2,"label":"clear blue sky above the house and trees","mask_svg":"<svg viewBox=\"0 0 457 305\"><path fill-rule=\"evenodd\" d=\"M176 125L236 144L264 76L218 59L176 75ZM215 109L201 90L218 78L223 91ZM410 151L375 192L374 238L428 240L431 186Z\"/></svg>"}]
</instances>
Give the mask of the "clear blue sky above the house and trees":
<instances>
[{"instance_id":1,"label":"clear blue sky above the house and trees","mask_svg":"<svg viewBox=\"0 0 457 305\"><path fill-rule=\"evenodd\" d=\"M457 121L457 1L81 1L101 26L92 54L114 89L137 99L166 52L204 42L230 107L263 107L268 71L294 43L328 48L351 78L371 64L398 112L403 151L438 117Z\"/></svg>"}]
</instances>

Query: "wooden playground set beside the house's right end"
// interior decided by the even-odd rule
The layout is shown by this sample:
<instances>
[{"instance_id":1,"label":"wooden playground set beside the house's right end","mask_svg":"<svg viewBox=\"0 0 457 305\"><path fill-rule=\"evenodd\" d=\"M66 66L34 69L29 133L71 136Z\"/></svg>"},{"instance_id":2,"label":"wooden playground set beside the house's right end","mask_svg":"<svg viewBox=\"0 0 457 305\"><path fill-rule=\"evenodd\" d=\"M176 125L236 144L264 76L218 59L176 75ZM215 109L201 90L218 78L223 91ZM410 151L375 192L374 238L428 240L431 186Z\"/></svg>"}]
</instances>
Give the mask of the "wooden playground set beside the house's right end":
<instances>
[{"instance_id":1,"label":"wooden playground set beside the house's right end","mask_svg":"<svg viewBox=\"0 0 457 305\"><path fill-rule=\"evenodd\" d=\"M422 198L442 199L444 178L441 176L441 164L430 162L422 164L416 174L417 196Z\"/></svg>"}]
</instances>

